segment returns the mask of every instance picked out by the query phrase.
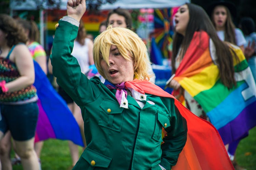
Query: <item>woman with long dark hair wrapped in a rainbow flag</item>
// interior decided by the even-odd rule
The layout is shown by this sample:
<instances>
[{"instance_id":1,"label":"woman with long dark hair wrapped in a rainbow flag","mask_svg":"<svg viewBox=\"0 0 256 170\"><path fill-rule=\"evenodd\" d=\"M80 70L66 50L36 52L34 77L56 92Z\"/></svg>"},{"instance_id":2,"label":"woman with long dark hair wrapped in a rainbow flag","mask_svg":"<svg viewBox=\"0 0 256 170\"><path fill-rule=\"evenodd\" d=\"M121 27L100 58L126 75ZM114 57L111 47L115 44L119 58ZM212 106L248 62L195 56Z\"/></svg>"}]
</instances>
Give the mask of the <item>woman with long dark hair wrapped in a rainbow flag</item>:
<instances>
[{"instance_id":1,"label":"woman with long dark hair wrapped in a rainbow flag","mask_svg":"<svg viewBox=\"0 0 256 170\"><path fill-rule=\"evenodd\" d=\"M191 112L211 121L227 148L234 143L237 146L237 141L256 125L245 123L248 117L256 119L251 114L254 108L246 107L250 103L241 98L241 103L237 103L244 105L241 112L236 105L231 105L241 96L241 90L238 90L241 82L245 86L251 82L252 94L256 93L242 50L234 46L233 41L231 44L219 39L210 18L200 6L182 5L175 14L175 23L172 57L175 75L167 86L174 88L174 94L184 94L185 104ZM232 94L236 97L231 97ZM255 97L252 100L255 103ZM238 127L241 131L237 131Z\"/></svg>"}]
</instances>

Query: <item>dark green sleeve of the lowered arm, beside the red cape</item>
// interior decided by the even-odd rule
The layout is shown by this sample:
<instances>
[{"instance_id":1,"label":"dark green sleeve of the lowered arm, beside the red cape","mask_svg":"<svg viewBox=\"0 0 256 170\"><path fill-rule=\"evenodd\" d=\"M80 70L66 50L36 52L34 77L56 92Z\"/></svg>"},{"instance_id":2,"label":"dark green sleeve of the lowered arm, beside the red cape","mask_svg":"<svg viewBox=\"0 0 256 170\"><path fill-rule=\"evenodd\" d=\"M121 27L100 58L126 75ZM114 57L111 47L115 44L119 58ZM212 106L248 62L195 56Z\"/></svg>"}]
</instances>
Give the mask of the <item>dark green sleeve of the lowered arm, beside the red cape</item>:
<instances>
[{"instance_id":1,"label":"dark green sleeve of the lowered arm, beside the red cape","mask_svg":"<svg viewBox=\"0 0 256 170\"><path fill-rule=\"evenodd\" d=\"M163 138L161 145L162 157L160 165L166 170L171 170L172 166L177 163L179 154L185 146L187 140L187 123L174 105L174 99L171 99L171 102L170 99L163 100L169 100L167 108L169 107L168 109L171 113L171 126L165 129L167 136Z\"/></svg>"}]
</instances>

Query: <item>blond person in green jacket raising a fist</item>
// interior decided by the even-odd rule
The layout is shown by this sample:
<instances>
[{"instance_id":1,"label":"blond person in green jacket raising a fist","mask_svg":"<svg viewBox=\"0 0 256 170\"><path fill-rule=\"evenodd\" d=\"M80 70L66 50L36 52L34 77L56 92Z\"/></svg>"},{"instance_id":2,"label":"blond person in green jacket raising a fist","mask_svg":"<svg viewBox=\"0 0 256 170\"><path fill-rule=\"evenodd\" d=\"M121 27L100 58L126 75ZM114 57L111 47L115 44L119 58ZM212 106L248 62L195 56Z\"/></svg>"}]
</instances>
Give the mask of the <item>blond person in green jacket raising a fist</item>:
<instances>
[{"instance_id":1,"label":"blond person in green jacket raising a fist","mask_svg":"<svg viewBox=\"0 0 256 170\"><path fill-rule=\"evenodd\" d=\"M84 120L87 147L73 169L171 170L186 143L187 124L174 99L148 82L145 44L131 30L109 26L94 41L94 62L106 81L87 79L71 55L85 11L85 0L68 1L51 55L58 84Z\"/></svg>"}]
</instances>

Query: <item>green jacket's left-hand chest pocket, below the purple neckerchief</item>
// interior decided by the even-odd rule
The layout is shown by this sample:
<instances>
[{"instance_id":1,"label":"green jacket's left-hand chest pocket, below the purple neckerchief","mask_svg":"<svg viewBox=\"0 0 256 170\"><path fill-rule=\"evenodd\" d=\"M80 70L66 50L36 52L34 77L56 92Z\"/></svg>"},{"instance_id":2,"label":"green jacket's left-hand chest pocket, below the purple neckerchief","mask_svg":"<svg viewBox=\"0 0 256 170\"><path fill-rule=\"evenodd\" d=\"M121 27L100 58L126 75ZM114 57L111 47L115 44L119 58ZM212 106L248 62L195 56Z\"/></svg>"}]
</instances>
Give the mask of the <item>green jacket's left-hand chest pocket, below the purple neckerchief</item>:
<instances>
[{"instance_id":1,"label":"green jacket's left-hand chest pocket, below the purple neckerchief","mask_svg":"<svg viewBox=\"0 0 256 170\"><path fill-rule=\"evenodd\" d=\"M120 132L124 119L124 108L117 101L104 99L100 104L99 125L113 131Z\"/></svg>"}]
</instances>

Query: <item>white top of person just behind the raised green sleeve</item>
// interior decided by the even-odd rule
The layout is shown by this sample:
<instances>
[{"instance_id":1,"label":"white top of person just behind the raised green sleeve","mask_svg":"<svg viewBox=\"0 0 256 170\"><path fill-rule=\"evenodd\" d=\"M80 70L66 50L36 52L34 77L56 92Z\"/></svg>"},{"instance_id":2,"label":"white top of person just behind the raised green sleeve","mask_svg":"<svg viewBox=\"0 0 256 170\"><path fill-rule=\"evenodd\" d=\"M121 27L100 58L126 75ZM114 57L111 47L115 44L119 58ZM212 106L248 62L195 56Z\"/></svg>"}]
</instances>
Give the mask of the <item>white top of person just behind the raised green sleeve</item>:
<instances>
[{"instance_id":1,"label":"white top of person just behind the raised green sleeve","mask_svg":"<svg viewBox=\"0 0 256 170\"><path fill-rule=\"evenodd\" d=\"M73 55L78 61L81 72L86 73L89 71L89 55L88 55L88 41L89 38L85 38L85 44L81 45L76 40L74 41L74 47L71 55Z\"/></svg>"}]
</instances>

